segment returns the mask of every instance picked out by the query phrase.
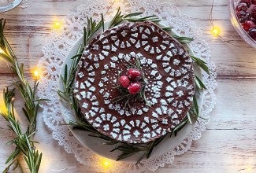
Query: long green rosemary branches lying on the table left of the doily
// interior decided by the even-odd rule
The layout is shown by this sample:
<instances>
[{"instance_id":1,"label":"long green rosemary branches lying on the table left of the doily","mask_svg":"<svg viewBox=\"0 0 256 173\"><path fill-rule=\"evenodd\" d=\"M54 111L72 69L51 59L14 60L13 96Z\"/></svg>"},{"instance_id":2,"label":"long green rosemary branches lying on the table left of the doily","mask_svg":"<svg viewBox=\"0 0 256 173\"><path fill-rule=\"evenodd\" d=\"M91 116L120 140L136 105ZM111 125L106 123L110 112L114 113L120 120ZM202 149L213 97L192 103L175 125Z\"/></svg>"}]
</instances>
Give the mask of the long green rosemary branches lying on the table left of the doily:
<instances>
[{"instance_id":1,"label":"long green rosemary branches lying on the table left of the doily","mask_svg":"<svg viewBox=\"0 0 256 173\"><path fill-rule=\"evenodd\" d=\"M1 113L8 122L8 127L16 134L16 138L7 144L13 144L16 146L16 149L6 160L6 164L9 164L4 172L9 170L9 167L17 161L17 157L20 156L20 153L24 154L24 159L28 164L29 170L33 173L39 171L39 166L42 159L42 153L35 151L35 141L32 140L32 137L36 131L36 117L39 109L39 102L43 99L36 98L36 90L38 87L38 82L35 81L34 85L31 86L28 81L24 78L24 64L19 64L17 57L15 56L9 42L4 36L6 20L0 20L0 57L9 62L10 68L14 75L17 75L17 80L14 81L14 84L20 91L22 98L24 99L24 116L28 120L27 131L22 133L20 128L20 123L15 119L13 112L13 97L14 90L4 90L4 99L6 104L6 113Z\"/></svg>"}]
</instances>

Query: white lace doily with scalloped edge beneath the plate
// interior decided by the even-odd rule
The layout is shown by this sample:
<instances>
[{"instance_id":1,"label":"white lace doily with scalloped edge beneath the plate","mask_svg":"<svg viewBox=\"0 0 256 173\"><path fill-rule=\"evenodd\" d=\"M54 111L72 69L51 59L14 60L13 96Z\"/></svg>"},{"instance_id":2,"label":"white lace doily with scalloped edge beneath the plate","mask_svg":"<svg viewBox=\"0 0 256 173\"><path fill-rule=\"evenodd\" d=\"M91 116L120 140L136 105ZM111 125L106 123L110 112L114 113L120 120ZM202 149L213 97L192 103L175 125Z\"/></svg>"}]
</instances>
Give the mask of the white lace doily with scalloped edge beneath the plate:
<instances>
[{"instance_id":1,"label":"white lace doily with scalloped edge beneath the plate","mask_svg":"<svg viewBox=\"0 0 256 173\"><path fill-rule=\"evenodd\" d=\"M191 147L193 140L198 140L201 137L202 131L206 130L206 125L210 122L210 112L215 105L215 94L213 90L217 86L215 65L210 61L210 52L205 46L202 39L200 39L201 32L195 27L187 17L183 17L178 13L177 9L169 4L162 4L159 1L120 1L109 2L94 0L88 2L86 5L78 7L76 13L71 13L65 18L65 27L61 33L54 32L46 40L46 45L43 47L44 56L39 61L39 68L43 70L43 78L39 83L39 98L47 98L46 104L43 107L43 120L46 126L50 128L53 138L58 141L58 144L65 148L67 153L73 153L76 159L81 164L90 165L95 167L95 171L102 171L98 166L98 161L101 157L87 149L69 131L69 127L61 124L65 123L61 115L61 106L58 98L58 83L59 73L65 57L69 50L80 39L83 34L83 26L86 24L87 17L94 17L96 20L104 14L105 19L112 18L116 13L117 7L121 7L124 13L131 12L144 12L145 16L157 15L162 20L165 20L169 26L173 27L176 33L182 36L192 37L195 40L190 43L191 50L194 51L197 57L206 61L210 68L210 75L205 72L202 73L203 81L206 84L207 90L203 93L202 109L200 110L201 116L204 119L198 119L192 131L184 136L184 140L176 145L175 148L169 152L154 158L143 160L140 164L136 165L128 162L115 162L115 166L111 167L111 172L117 171L155 171L158 167L164 167L165 164L172 164L174 157L186 153Z\"/></svg>"}]
</instances>

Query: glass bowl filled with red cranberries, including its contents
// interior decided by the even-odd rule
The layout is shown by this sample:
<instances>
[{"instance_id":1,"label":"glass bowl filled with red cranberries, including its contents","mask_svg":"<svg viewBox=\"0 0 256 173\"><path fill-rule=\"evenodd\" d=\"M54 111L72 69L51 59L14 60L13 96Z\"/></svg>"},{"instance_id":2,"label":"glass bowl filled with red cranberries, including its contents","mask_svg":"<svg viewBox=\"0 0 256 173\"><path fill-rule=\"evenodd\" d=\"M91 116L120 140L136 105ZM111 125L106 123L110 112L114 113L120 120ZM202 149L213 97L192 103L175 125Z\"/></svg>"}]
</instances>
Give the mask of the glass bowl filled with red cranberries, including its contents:
<instances>
[{"instance_id":1,"label":"glass bowl filled with red cranberries, including its contents","mask_svg":"<svg viewBox=\"0 0 256 173\"><path fill-rule=\"evenodd\" d=\"M256 48L256 0L228 0L228 9L236 31Z\"/></svg>"}]
</instances>

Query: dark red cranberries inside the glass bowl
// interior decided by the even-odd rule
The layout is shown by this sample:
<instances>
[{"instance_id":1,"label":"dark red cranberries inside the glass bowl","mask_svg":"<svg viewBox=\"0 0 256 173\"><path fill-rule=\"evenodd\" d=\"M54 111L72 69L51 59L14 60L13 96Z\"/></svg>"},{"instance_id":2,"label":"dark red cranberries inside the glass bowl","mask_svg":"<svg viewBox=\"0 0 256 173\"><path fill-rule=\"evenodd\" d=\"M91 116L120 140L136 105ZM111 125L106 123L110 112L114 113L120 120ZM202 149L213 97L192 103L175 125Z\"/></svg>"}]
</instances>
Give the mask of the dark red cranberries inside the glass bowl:
<instances>
[{"instance_id":1,"label":"dark red cranberries inside the glass bowl","mask_svg":"<svg viewBox=\"0 0 256 173\"><path fill-rule=\"evenodd\" d=\"M241 0L236 6L236 15L243 29L256 40L256 0Z\"/></svg>"}]
</instances>

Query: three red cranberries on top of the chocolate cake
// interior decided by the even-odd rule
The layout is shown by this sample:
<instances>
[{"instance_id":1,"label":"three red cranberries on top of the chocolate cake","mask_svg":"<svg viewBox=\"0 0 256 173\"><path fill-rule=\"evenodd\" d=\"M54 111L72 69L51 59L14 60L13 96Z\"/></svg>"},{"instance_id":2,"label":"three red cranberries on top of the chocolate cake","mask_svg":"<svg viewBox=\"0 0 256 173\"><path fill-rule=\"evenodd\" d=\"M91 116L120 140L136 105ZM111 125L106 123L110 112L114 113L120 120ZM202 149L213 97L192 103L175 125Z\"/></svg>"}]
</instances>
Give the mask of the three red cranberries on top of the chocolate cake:
<instances>
[{"instance_id":1,"label":"three red cranberries on top of the chocolate cake","mask_svg":"<svg viewBox=\"0 0 256 173\"><path fill-rule=\"evenodd\" d=\"M121 75L119 83L124 88L128 89L129 94L137 94L141 89L141 72L138 69L130 68L128 69L126 75Z\"/></svg>"}]
</instances>

